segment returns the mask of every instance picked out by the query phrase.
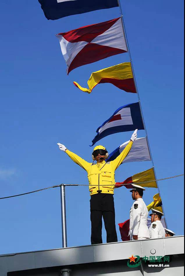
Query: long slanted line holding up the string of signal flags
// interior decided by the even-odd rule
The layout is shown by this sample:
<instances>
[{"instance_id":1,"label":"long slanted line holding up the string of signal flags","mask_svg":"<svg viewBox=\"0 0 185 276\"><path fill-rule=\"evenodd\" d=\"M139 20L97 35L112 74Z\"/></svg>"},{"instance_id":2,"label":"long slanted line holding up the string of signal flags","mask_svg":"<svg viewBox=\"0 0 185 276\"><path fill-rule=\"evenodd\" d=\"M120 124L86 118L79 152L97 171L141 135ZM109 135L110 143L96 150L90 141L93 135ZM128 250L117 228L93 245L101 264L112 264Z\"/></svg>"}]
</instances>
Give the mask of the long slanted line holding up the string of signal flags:
<instances>
[{"instance_id":1,"label":"long slanted line holding up the string of signal flags","mask_svg":"<svg viewBox=\"0 0 185 276\"><path fill-rule=\"evenodd\" d=\"M139 107L140 107L141 117L142 117L143 125L144 125L144 128L145 128L145 133L146 133L146 138L147 138L147 144L148 144L148 148L149 148L149 152L150 152L152 166L153 166L153 169L154 169L155 179L157 179L157 177L156 177L156 171L155 171L155 166L154 166L154 161L153 161L153 157L152 157L152 152L151 152L151 148L150 148L150 144L149 144L149 140L148 140L148 134L147 134L147 130L146 130L145 120L144 120L144 116L143 116L143 110L142 110L142 107L141 107L140 96L139 96L138 87L137 87L137 83L136 83L136 77L135 77L135 74L134 74L134 67L133 67L133 63L132 63L132 57L131 57L129 43L128 43L128 39L127 39L127 33L126 33L125 24L124 24L124 20L123 20L123 13L122 13L122 8L121 8L120 0L118 0L118 5L120 7L120 13L121 13L121 19L122 19L122 28L123 28L123 33L124 33L124 37L125 37L125 42L126 42L126 45L127 45L127 50L128 50L128 53L129 53L129 58L130 58L130 63L131 63L131 69L132 69L134 84L135 84L136 92L137 92L137 95L138 95L138 101L139 101ZM156 181L156 183L157 183L157 188L158 188L158 191L159 191L159 196L161 196L158 181ZM163 208L163 212L164 212L164 208ZM166 227L168 228L165 212L164 212L164 219L165 219Z\"/></svg>"}]
</instances>

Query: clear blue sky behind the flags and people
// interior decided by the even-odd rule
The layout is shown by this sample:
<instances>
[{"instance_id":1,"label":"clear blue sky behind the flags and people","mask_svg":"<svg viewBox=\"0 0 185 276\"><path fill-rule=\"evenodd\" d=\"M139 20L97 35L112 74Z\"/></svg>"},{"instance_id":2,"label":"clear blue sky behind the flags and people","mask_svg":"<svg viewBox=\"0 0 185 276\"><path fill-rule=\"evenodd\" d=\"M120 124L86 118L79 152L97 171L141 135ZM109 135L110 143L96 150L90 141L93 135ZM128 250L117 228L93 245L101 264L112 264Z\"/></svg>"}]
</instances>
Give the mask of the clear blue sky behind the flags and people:
<instances>
[{"instance_id":1,"label":"clear blue sky behind the flags and people","mask_svg":"<svg viewBox=\"0 0 185 276\"><path fill-rule=\"evenodd\" d=\"M121 0L136 81L157 178L184 172L183 1ZM81 92L93 71L129 61L127 53L88 64L66 75L55 34L120 16L119 8L51 21L35 1L1 1L0 197L60 183L88 184L86 172L58 149L61 142L91 162L88 145L96 129L137 95L111 84ZM132 132L99 142L109 152ZM144 137L144 130L138 137ZM115 180L152 167L122 164ZM168 227L184 234L184 177L159 182ZM147 189L146 204L157 189ZM116 224L133 203L124 187L115 191ZM90 244L88 187L67 187L68 246ZM61 247L60 189L0 200L0 254ZM118 239L120 233L117 226ZM103 229L103 241L106 241Z\"/></svg>"}]
</instances>

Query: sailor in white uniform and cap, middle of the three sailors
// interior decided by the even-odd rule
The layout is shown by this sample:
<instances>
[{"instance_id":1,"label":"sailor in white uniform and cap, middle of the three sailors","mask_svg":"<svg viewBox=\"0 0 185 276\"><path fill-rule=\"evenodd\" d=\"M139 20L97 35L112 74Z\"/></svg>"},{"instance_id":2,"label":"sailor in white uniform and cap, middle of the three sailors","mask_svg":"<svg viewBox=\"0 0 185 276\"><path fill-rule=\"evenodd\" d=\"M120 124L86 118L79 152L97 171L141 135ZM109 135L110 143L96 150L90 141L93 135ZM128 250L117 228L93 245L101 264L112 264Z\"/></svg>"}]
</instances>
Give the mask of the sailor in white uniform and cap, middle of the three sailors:
<instances>
[{"instance_id":1,"label":"sailor in white uniform and cap, middle of the three sailors","mask_svg":"<svg viewBox=\"0 0 185 276\"><path fill-rule=\"evenodd\" d=\"M151 239L164 238L166 233L161 223L161 218L164 214L156 209L152 209L152 214L150 214L150 216L152 222L149 228Z\"/></svg>"}]
</instances>

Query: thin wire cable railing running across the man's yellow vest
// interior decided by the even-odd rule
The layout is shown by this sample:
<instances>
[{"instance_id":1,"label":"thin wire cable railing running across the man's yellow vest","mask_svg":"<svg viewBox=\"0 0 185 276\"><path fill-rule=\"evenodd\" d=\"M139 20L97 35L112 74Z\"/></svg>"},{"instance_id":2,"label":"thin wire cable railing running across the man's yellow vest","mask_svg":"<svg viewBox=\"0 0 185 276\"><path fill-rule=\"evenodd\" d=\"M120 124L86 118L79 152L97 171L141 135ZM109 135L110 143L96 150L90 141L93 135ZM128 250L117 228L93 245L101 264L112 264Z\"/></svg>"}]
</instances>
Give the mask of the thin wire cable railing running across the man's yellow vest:
<instances>
[{"instance_id":1,"label":"thin wire cable railing running across the man's yellow vest","mask_svg":"<svg viewBox=\"0 0 185 276\"><path fill-rule=\"evenodd\" d=\"M167 180L167 179L171 179L171 178L176 178L176 177L179 177L179 176L183 176L183 174L179 174L179 175L175 175L175 176L170 176L170 177L166 177L166 178L161 178L161 179L154 179L154 180L149 180L149 181L144 181L144 182L133 182L135 184L144 184L144 183L150 183L150 182L154 182L154 181L161 181L161 180ZM132 183L124 183L122 184L122 186L125 186L125 185L131 185ZM47 187L47 188L43 188L43 189L39 189L39 190L35 190L35 191L31 191L31 192L27 192L27 193L20 193L18 195L14 195L14 196L5 196L3 198L0 198L0 199L5 199L5 198L13 198L13 197L17 197L17 196L24 196L24 195L28 195L30 193L36 193L36 192L40 192L40 191L44 191L44 190L48 190L48 189L51 189L51 188L56 188L56 187L61 187L61 186L99 186L99 185L89 185L89 184L60 184L60 185L55 185L55 186L51 186L51 187ZM112 185L106 185L106 186L112 186Z\"/></svg>"}]
</instances>

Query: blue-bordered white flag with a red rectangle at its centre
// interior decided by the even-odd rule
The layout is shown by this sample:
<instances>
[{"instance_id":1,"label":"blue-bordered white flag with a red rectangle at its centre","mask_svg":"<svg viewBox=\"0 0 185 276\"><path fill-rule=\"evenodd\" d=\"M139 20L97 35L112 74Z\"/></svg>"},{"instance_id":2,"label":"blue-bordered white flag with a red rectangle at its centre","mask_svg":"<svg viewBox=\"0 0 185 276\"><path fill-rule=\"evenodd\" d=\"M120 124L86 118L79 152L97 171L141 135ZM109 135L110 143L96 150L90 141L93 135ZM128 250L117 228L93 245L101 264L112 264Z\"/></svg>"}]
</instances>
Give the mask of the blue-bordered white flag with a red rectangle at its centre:
<instances>
[{"instance_id":1,"label":"blue-bordered white flag with a red rectangle at its centre","mask_svg":"<svg viewBox=\"0 0 185 276\"><path fill-rule=\"evenodd\" d=\"M113 133L135 129L144 129L139 103L121 106L97 129L97 135L92 141L92 146L100 139Z\"/></svg>"}]
</instances>

